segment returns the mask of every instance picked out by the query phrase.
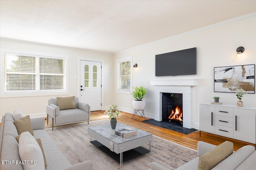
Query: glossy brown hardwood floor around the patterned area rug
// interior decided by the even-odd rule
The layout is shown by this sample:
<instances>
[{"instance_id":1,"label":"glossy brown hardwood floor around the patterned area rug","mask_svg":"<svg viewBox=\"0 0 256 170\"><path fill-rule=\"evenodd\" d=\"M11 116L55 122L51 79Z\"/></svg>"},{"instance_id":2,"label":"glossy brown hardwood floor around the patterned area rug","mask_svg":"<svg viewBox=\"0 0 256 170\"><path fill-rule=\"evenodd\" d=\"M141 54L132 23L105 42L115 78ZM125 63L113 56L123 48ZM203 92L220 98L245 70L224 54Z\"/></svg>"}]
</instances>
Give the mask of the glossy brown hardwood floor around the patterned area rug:
<instances>
[{"instance_id":1,"label":"glossy brown hardwood floor around the patterned area rug","mask_svg":"<svg viewBox=\"0 0 256 170\"><path fill-rule=\"evenodd\" d=\"M168 141L172 141L175 143L178 143L180 145L189 147L191 149L197 150L197 143L198 141L204 141L207 143L211 143L214 145L220 145L224 141L230 141L234 143L234 150L238 150L239 148L245 146L245 145L252 145L251 143L246 143L226 137L221 137L218 135L213 135L210 133L201 133L201 137L199 137L199 131L195 131L193 133L190 133L188 135L184 135L182 133L178 133L176 131L172 131L169 129L165 129L162 127L157 127L154 125L150 125L148 123L143 123L144 119L141 118L138 121L135 119L132 119L132 115L130 113L122 112L122 114L117 118L118 122L136 127L138 129L148 131L149 133L152 133L153 135L156 135L158 137L164 138ZM138 117L136 117L138 118ZM104 111L92 111L90 114L90 121L96 121L96 120L102 120L102 119L108 119L108 115L104 114ZM147 118L149 119L149 118ZM153 141L154 143L154 141Z\"/></svg>"}]
</instances>

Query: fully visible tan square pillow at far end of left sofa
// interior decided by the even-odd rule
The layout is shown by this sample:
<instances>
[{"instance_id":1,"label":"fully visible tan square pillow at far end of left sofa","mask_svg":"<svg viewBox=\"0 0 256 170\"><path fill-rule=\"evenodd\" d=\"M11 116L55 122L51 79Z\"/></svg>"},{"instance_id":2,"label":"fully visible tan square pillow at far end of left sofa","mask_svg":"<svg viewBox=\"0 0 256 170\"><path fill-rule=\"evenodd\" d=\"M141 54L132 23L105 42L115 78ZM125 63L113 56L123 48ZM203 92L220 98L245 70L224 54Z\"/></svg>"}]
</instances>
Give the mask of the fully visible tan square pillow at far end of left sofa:
<instances>
[{"instance_id":1,"label":"fully visible tan square pillow at far end of left sofa","mask_svg":"<svg viewBox=\"0 0 256 170\"><path fill-rule=\"evenodd\" d=\"M18 135L26 131L29 131L31 135L34 135L29 115L23 117L22 119L14 121L14 125L16 126L16 129L18 131Z\"/></svg>"}]
</instances>

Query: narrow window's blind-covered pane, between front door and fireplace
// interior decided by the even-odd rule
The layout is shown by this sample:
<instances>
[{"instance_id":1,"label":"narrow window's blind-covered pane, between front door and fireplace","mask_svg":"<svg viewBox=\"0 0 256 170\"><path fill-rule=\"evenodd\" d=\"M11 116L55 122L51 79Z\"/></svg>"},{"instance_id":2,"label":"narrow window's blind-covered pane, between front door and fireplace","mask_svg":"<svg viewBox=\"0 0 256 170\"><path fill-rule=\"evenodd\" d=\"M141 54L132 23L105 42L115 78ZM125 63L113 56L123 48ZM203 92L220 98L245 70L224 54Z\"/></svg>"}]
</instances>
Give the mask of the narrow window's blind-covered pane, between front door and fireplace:
<instances>
[{"instance_id":1,"label":"narrow window's blind-covered pane, between front door and fireplace","mask_svg":"<svg viewBox=\"0 0 256 170\"><path fill-rule=\"evenodd\" d=\"M131 60L118 62L118 90L131 90Z\"/></svg>"}]
</instances>

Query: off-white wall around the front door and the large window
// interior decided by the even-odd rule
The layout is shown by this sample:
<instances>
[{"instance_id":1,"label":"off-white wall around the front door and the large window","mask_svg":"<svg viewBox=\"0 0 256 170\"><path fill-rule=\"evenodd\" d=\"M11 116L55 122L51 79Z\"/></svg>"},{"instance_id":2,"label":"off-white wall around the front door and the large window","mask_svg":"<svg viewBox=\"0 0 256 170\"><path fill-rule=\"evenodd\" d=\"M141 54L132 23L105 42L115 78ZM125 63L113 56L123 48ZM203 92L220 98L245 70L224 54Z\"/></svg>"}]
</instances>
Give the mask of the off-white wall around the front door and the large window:
<instances>
[{"instance_id":1,"label":"off-white wall around the front door and the large window","mask_svg":"<svg viewBox=\"0 0 256 170\"><path fill-rule=\"evenodd\" d=\"M50 53L58 55L69 56L69 94L65 96L77 96L78 87L80 85L78 80L74 80L74 76L78 76L78 58L97 59L102 60L104 65L104 72L102 72L103 84L104 84L104 106L112 104L109 99L113 98L113 55L111 53L103 53L99 51L90 51L84 49L58 47L53 45L44 45L39 43L29 43L25 41L13 41L9 39L0 40L0 48L20 50L20 51L32 51L39 53ZM4 57L3 55L0 56ZM1 63L2 64L2 63ZM2 65L1 65L2 66ZM1 76L4 76L1 74ZM16 98L0 98L0 118L7 113L12 113L15 109L20 110L24 115L29 114L31 117L37 117L38 115L46 115L46 105L48 99L56 96L36 96L36 97L16 97ZM42 108L41 104L44 103L45 107ZM103 106L103 107L104 107Z\"/></svg>"}]
</instances>

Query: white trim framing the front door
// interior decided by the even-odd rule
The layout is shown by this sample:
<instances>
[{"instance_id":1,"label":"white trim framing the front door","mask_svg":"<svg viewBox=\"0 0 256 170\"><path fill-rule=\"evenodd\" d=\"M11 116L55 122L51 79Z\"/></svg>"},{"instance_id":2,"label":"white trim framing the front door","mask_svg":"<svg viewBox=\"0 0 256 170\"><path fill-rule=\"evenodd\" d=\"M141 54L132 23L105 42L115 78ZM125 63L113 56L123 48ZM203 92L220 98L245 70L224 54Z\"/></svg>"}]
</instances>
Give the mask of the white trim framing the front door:
<instances>
[{"instance_id":1,"label":"white trim framing the front door","mask_svg":"<svg viewBox=\"0 0 256 170\"><path fill-rule=\"evenodd\" d=\"M77 58L77 96L79 96L79 101L80 101L80 61L95 61L95 62L101 62L101 110L102 110L102 107L104 106L104 76L102 75L103 74L103 69L104 69L104 60L98 60L98 59L89 59L89 58L83 58L83 57L78 57Z\"/></svg>"}]
</instances>

